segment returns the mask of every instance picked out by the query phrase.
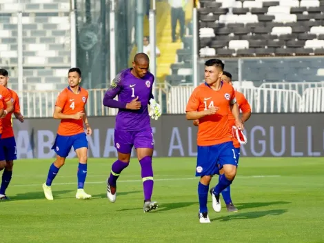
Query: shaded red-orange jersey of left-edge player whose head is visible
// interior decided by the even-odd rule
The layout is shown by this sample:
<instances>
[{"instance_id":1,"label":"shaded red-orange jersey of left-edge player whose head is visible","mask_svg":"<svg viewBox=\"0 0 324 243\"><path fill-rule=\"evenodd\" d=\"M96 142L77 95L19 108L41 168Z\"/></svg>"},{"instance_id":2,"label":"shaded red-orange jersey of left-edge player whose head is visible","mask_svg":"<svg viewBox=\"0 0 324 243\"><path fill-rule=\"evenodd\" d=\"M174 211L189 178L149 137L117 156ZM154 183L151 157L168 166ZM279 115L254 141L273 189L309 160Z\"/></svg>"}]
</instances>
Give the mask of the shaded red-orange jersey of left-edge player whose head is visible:
<instances>
[{"instance_id":1,"label":"shaded red-orange jersey of left-edge player whose head is visible","mask_svg":"<svg viewBox=\"0 0 324 243\"><path fill-rule=\"evenodd\" d=\"M14 109L11 113L8 113L6 117L2 119L2 136L1 138L7 138L7 137L14 137L14 130L12 129L12 113L20 113L20 106L19 106L19 97L14 90L10 90L8 88L10 95L11 95L11 101L14 104Z\"/></svg>"}]
</instances>

